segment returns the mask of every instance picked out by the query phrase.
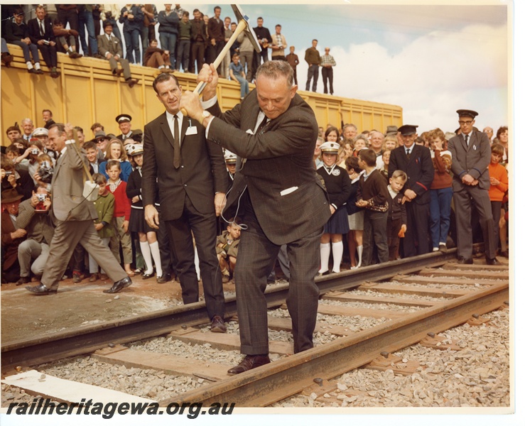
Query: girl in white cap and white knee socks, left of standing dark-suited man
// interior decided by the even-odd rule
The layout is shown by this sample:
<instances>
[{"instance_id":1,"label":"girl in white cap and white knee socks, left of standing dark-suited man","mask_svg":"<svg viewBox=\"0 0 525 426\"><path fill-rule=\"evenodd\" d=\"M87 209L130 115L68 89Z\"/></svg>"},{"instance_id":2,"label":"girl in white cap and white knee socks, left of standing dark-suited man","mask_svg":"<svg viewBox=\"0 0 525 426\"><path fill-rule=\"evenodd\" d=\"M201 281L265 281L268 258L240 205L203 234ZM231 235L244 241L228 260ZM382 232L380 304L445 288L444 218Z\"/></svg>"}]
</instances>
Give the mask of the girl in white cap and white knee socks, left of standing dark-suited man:
<instances>
[{"instance_id":1,"label":"girl in white cap and white knee socks, left of standing dark-suited man","mask_svg":"<svg viewBox=\"0 0 525 426\"><path fill-rule=\"evenodd\" d=\"M148 226L144 219L144 206L142 205L141 185L142 185L142 160L144 148L141 143L132 144L128 148L128 155L134 160L135 170L129 175L126 184L126 195L131 200L131 214L129 217L129 231L139 234L139 245L141 253L146 263L146 271L142 275L143 280L153 276L153 262L155 263L157 281L163 275L161 266L161 251L158 248L156 231ZM151 258L153 257L153 262Z\"/></svg>"}]
</instances>

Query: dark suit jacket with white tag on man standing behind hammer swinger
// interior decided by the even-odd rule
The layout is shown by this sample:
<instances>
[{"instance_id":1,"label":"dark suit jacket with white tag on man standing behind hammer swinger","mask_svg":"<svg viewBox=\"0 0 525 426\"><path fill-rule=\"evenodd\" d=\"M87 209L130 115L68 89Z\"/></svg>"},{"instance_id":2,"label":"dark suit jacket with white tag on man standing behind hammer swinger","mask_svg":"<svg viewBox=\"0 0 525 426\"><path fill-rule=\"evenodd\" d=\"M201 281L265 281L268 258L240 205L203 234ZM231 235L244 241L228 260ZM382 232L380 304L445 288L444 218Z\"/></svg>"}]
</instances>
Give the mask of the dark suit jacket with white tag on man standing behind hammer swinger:
<instances>
[{"instance_id":1,"label":"dark suit jacket with white tag on man standing behind hammer swinger","mask_svg":"<svg viewBox=\"0 0 525 426\"><path fill-rule=\"evenodd\" d=\"M156 185L161 200L163 220L179 219L185 195L202 214L215 212L215 192L227 192L228 175L222 149L206 141L205 129L197 121L197 133L186 134L188 117L183 118L180 136L180 167L173 167L173 134L163 112L144 127L144 165L142 167L142 202L156 201Z\"/></svg>"}]
</instances>

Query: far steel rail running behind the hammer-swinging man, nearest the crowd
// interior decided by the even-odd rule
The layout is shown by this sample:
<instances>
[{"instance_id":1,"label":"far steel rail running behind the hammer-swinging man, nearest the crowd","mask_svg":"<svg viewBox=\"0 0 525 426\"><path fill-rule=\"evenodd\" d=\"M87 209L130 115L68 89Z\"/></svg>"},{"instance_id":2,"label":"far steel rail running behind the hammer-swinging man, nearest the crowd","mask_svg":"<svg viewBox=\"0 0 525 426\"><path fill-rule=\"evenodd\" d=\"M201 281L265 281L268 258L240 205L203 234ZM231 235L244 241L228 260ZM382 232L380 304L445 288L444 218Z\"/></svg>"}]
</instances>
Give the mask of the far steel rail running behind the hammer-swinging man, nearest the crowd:
<instances>
[{"instance_id":1,"label":"far steel rail running behind the hammer-swinging man, nearest the crowd","mask_svg":"<svg viewBox=\"0 0 525 426\"><path fill-rule=\"evenodd\" d=\"M479 246L477 246L479 250ZM455 249L448 253L428 253L399 261L367 266L337 275L316 278L320 293L330 290L355 288L366 281L386 280L399 273L411 273L428 266L443 264L455 258ZM276 307L286 301L288 284L274 285L266 289L266 302ZM226 298L225 316L237 312L234 296ZM16 366L33 366L56 361L68 356L88 354L108 344L121 344L134 340L156 337L171 332L182 325L203 324L207 317L205 302L158 310L136 317L126 317L87 327L69 329L43 337L21 339L16 342L2 342L1 371L10 371Z\"/></svg>"}]
</instances>

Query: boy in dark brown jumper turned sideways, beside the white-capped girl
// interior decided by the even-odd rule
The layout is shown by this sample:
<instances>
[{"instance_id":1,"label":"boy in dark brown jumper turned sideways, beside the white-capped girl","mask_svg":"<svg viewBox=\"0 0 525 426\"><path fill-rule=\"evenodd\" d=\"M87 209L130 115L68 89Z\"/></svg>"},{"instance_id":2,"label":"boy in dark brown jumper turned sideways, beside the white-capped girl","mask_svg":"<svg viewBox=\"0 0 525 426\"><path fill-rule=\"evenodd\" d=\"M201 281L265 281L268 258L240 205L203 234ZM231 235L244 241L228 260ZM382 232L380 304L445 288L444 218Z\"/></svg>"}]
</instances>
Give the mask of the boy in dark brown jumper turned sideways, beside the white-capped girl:
<instances>
[{"instance_id":1,"label":"boy in dark brown jumper turned sideways, beside the white-capped girl","mask_svg":"<svg viewBox=\"0 0 525 426\"><path fill-rule=\"evenodd\" d=\"M386 238L386 222L389 211L389 190L386 180L376 168L376 153L362 149L358 157L359 167L364 173L359 178L357 207L364 210L363 265L372 265L374 246L379 263L389 260L389 246Z\"/></svg>"}]
</instances>

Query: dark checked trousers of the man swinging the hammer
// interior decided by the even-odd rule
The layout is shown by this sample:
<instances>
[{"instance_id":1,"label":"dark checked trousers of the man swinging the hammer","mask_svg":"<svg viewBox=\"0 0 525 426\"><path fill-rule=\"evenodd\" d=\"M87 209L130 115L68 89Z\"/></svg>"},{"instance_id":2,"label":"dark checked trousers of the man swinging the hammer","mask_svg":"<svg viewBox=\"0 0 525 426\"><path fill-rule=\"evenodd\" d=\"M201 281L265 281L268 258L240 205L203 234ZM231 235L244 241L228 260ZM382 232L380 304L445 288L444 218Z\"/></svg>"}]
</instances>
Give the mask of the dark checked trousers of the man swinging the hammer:
<instances>
[{"instance_id":1,"label":"dark checked trousers of the man swinging the hammer","mask_svg":"<svg viewBox=\"0 0 525 426\"><path fill-rule=\"evenodd\" d=\"M244 214L247 230L242 231L235 265L235 292L241 335L241 352L268 354L266 278L274 268L281 246L272 243L257 222L253 209ZM293 352L313 348L319 289L314 277L319 269L320 237L323 228L286 245L290 260L290 285L286 305L292 319Z\"/></svg>"}]
</instances>

